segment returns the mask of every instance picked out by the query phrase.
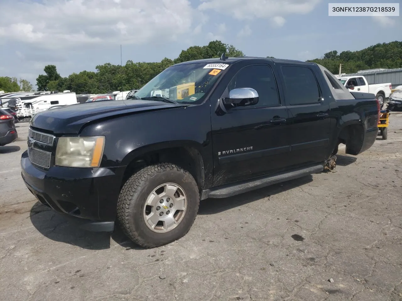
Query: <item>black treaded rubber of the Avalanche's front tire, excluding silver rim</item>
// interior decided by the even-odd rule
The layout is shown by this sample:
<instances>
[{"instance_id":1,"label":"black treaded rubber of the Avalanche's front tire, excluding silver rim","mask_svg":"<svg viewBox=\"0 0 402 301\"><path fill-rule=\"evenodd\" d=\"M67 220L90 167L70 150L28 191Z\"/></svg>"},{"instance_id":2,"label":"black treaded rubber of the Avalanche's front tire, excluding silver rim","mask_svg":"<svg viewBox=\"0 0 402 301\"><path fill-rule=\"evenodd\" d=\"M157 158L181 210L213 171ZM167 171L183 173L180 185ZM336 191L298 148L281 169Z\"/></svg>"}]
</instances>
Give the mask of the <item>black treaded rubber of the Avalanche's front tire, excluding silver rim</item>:
<instances>
[{"instance_id":1,"label":"black treaded rubber of the Avalanche's front tire, excluding silver rim","mask_svg":"<svg viewBox=\"0 0 402 301\"><path fill-rule=\"evenodd\" d=\"M148 228L143 212L148 195L163 183L176 183L184 189L187 209L176 228L157 233ZM197 217L199 200L197 183L188 171L174 164L158 163L144 167L124 183L117 202L117 220L133 242L144 248L155 248L174 242L189 232Z\"/></svg>"}]
</instances>

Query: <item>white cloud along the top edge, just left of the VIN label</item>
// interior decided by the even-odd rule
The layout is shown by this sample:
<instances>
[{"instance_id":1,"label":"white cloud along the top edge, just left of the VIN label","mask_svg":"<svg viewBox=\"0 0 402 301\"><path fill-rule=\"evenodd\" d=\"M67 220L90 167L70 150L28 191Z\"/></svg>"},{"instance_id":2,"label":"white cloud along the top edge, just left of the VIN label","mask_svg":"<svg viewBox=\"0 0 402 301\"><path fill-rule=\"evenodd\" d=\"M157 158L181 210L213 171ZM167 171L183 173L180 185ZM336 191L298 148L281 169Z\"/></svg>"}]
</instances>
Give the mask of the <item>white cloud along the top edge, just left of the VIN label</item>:
<instances>
[{"instance_id":1,"label":"white cloud along the top edge, just left of the VIN label","mask_svg":"<svg viewBox=\"0 0 402 301\"><path fill-rule=\"evenodd\" d=\"M215 10L234 18L252 20L277 15L306 14L311 12L320 0L201 0L198 9Z\"/></svg>"}]
</instances>

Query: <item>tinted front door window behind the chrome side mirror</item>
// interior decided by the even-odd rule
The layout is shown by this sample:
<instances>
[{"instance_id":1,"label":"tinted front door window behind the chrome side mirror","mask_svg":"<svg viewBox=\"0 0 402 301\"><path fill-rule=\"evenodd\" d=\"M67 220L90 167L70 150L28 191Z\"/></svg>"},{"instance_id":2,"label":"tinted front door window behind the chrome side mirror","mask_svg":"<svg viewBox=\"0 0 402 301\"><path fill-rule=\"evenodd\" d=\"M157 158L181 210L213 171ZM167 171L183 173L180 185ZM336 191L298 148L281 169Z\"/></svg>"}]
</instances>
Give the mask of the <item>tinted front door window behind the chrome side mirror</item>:
<instances>
[{"instance_id":1,"label":"tinted front door window behind the chrome side mirror","mask_svg":"<svg viewBox=\"0 0 402 301\"><path fill-rule=\"evenodd\" d=\"M254 65L240 69L230 81L228 92L235 88L252 88L257 91L258 103L248 108L279 106L275 77L268 65Z\"/></svg>"}]
</instances>

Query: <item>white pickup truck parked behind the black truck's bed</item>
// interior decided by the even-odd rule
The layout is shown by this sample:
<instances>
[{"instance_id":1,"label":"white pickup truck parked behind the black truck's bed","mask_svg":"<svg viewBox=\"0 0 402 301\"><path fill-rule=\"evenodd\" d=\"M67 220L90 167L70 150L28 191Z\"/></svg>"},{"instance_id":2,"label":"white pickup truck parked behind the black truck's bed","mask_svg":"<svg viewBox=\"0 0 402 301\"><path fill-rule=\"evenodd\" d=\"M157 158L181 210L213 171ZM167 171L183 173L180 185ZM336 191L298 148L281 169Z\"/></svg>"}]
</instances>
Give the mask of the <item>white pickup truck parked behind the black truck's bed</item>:
<instances>
[{"instance_id":1,"label":"white pickup truck parked behind the black truck's bed","mask_svg":"<svg viewBox=\"0 0 402 301\"><path fill-rule=\"evenodd\" d=\"M384 100L391 94L392 83L368 84L363 75L339 77L339 81L351 92L373 93L382 107Z\"/></svg>"}]
</instances>

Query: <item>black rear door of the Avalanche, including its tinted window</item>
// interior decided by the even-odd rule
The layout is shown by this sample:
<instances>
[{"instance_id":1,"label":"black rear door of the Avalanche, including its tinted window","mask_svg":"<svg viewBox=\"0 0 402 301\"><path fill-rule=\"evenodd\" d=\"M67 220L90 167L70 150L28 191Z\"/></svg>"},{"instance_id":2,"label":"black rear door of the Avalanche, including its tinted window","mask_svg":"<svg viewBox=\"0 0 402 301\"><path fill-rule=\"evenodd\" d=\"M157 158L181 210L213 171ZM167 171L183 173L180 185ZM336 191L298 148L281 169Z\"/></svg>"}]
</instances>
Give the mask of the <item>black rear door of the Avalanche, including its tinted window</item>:
<instances>
[{"instance_id":1,"label":"black rear door of the Avalanche, including its tinted window","mask_svg":"<svg viewBox=\"0 0 402 301\"><path fill-rule=\"evenodd\" d=\"M322 97L312 68L313 65L307 64L278 66L289 112L289 165L294 168L328 159L329 100Z\"/></svg>"}]
</instances>

